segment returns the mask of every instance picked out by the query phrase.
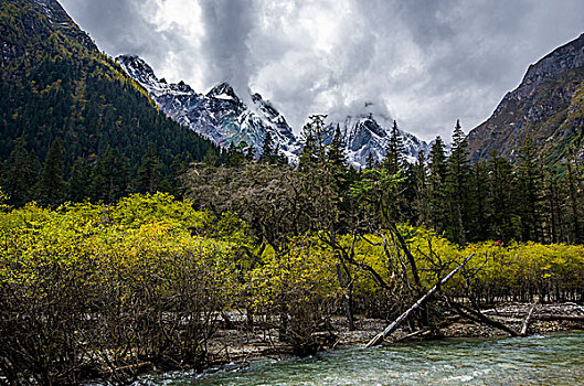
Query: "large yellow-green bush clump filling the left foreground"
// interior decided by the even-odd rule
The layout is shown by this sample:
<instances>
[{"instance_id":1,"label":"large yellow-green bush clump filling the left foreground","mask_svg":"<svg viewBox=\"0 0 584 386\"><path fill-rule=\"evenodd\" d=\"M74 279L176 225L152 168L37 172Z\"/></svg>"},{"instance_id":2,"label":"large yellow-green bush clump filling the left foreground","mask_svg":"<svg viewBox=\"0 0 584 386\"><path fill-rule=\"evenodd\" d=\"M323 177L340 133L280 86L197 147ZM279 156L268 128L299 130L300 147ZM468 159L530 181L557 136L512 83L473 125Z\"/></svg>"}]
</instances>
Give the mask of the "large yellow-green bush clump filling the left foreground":
<instances>
[{"instance_id":1,"label":"large yellow-green bush clump filling the left foreground","mask_svg":"<svg viewBox=\"0 0 584 386\"><path fill-rule=\"evenodd\" d=\"M3 213L2 374L75 384L204 363L237 289L232 245L193 235L206 221L166 194Z\"/></svg>"}]
</instances>

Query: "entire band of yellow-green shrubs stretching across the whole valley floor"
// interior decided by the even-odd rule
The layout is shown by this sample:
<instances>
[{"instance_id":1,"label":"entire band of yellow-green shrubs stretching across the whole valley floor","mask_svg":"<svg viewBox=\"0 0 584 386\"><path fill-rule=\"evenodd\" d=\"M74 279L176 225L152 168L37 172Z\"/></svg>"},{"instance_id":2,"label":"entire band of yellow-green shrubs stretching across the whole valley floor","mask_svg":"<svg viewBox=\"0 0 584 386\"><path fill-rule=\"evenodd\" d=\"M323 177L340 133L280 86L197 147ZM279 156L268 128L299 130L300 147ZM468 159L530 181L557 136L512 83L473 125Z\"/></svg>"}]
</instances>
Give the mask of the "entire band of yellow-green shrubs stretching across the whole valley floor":
<instances>
[{"instance_id":1,"label":"entire band of yellow-green shrubs stretching across the whole valley floor","mask_svg":"<svg viewBox=\"0 0 584 386\"><path fill-rule=\"evenodd\" d=\"M247 310L248 329L277 329L307 353L317 349L315 331L347 315L348 301L351 315L392 319L471 253L476 258L444 289L453 298L584 296L582 246L460 247L433 230L397 226L415 259L417 289L404 250L391 242L394 230L331 237L330 229L302 229L263 245L233 214L195 211L192 201L163 193L115 205L4 205L0 229L0 369L11 383L125 380L152 367L203 367L222 314L234 309ZM440 318L439 308L428 312L431 323Z\"/></svg>"}]
</instances>

